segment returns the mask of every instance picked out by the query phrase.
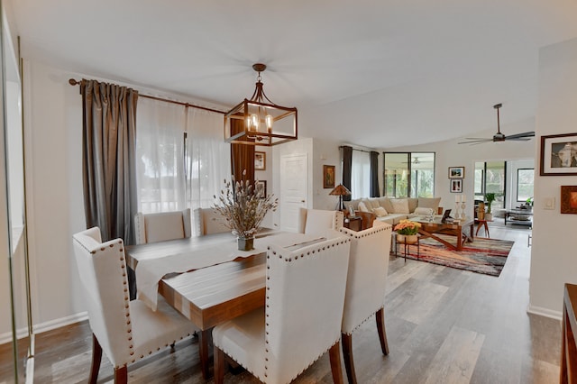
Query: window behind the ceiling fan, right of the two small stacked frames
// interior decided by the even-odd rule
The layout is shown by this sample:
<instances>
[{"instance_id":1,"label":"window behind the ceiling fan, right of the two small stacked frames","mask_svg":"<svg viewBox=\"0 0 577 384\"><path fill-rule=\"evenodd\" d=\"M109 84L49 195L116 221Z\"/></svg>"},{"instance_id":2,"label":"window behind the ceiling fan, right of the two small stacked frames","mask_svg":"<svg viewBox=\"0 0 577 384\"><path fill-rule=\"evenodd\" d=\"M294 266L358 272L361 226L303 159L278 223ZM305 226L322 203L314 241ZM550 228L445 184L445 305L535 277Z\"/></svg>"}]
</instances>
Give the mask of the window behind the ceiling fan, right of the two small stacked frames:
<instances>
[{"instance_id":1,"label":"window behind the ceiling fan, right of the two small stacked frames","mask_svg":"<svg viewBox=\"0 0 577 384\"><path fill-rule=\"evenodd\" d=\"M505 161L475 162L475 200L485 201L485 194L494 193L491 208L505 207L507 163Z\"/></svg>"}]
</instances>

